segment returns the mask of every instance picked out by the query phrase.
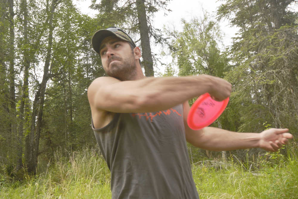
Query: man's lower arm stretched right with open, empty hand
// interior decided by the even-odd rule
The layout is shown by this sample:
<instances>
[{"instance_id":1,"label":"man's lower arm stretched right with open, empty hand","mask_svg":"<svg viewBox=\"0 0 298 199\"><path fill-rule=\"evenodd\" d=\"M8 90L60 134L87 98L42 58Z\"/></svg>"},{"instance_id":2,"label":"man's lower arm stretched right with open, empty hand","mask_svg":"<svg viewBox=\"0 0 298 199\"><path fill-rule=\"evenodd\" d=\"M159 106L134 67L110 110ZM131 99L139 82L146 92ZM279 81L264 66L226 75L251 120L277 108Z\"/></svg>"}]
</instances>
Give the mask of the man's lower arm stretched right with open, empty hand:
<instances>
[{"instance_id":1,"label":"man's lower arm stretched right with open, empty hand","mask_svg":"<svg viewBox=\"0 0 298 199\"><path fill-rule=\"evenodd\" d=\"M288 129L268 129L261 133L238 133L215 127L193 130L188 127L187 115L190 106L183 104L183 117L186 140L193 146L212 151L229 151L235 149L262 148L275 152L293 138Z\"/></svg>"}]
</instances>

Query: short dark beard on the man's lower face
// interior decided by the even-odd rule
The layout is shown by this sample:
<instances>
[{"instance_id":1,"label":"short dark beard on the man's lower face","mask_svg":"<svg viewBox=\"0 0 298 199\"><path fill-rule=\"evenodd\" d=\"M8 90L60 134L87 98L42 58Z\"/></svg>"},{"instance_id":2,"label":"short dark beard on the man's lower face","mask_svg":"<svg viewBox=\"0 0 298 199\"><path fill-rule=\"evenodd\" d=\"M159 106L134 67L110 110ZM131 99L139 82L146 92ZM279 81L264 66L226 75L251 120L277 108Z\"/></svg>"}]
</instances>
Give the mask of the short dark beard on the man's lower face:
<instances>
[{"instance_id":1,"label":"short dark beard on the man's lower face","mask_svg":"<svg viewBox=\"0 0 298 199\"><path fill-rule=\"evenodd\" d=\"M114 60L116 62L111 63ZM131 80L136 73L136 63L133 57L120 58L117 56L112 56L108 60L108 71L107 74L110 77L117 78L121 81Z\"/></svg>"}]
</instances>

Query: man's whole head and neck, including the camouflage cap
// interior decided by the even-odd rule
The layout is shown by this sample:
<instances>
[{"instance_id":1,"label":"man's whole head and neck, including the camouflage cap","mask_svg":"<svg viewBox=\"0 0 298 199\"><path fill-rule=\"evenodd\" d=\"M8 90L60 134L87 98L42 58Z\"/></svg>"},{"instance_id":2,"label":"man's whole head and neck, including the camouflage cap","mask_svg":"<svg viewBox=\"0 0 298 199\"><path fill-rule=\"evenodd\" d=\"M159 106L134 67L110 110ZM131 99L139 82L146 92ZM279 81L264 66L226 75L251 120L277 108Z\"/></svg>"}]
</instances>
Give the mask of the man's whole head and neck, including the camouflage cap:
<instances>
[{"instance_id":1,"label":"man's whole head and neck, including the camouflage cap","mask_svg":"<svg viewBox=\"0 0 298 199\"><path fill-rule=\"evenodd\" d=\"M137 61L141 57L139 47L121 29L110 27L94 33L91 44L102 61L105 72L120 80L132 80L142 76Z\"/></svg>"}]
</instances>

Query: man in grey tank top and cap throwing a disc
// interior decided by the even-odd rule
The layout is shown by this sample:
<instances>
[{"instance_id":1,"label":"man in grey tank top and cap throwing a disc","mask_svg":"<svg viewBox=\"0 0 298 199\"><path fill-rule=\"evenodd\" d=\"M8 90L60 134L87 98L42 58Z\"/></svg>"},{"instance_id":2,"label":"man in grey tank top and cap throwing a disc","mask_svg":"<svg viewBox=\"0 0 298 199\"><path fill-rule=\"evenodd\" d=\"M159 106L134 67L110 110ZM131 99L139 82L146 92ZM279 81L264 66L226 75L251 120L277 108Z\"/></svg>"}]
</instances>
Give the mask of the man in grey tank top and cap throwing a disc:
<instances>
[{"instance_id":1,"label":"man in grey tank top and cap throwing a disc","mask_svg":"<svg viewBox=\"0 0 298 199\"><path fill-rule=\"evenodd\" d=\"M229 82L210 75L146 78L139 47L117 27L97 31L91 43L109 76L91 83L88 99L92 129L111 171L112 198L199 198L186 141L214 151L277 151L292 138L288 129L192 130L187 101L206 92L222 101L230 96Z\"/></svg>"}]
</instances>

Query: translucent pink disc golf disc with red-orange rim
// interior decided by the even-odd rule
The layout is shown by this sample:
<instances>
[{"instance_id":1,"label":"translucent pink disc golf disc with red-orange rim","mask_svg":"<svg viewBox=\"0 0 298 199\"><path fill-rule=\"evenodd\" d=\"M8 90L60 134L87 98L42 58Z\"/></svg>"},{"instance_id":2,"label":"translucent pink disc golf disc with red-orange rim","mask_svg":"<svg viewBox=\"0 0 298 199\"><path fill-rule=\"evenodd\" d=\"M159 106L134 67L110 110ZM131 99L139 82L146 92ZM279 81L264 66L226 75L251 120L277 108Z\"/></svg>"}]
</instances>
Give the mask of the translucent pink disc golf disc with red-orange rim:
<instances>
[{"instance_id":1,"label":"translucent pink disc golf disc with red-orange rim","mask_svg":"<svg viewBox=\"0 0 298 199\"><path fill-rule=\"evenodd\" d=\"M212 124L226 108L229 98L215 101L209 93L198 97L187 116L187 124L193 130L202 129Z\"/></svg>"}]
</instances>

